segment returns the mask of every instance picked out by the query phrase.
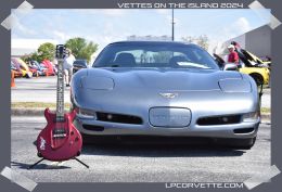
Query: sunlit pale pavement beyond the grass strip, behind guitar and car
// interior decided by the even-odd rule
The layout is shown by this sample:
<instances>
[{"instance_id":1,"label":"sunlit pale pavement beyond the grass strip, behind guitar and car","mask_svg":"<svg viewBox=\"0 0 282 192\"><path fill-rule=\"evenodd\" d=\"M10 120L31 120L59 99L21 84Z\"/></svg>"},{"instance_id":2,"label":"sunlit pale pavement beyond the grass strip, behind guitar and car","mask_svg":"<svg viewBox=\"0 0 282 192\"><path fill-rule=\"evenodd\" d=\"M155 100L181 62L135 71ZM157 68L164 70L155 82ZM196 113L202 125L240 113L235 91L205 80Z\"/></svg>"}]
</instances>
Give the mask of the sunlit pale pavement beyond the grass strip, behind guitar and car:
<instances>
[{"instance_id":1,"label":"sunlit pale pavement beyond the grass strip, behind guitar and car","mask_svg":"<svg viewBox=\"0 0 282 192\"><path fill-rule=\"evenodd\" d=\"M33 79L16 78L15 88L11 90L12 102L46 102L56 101L56 76ZM65 102L69 101L69 88L65 88ZM271 90L265 89L261 100L262 107L270 107Z\"/></svg>"}]
</instances>

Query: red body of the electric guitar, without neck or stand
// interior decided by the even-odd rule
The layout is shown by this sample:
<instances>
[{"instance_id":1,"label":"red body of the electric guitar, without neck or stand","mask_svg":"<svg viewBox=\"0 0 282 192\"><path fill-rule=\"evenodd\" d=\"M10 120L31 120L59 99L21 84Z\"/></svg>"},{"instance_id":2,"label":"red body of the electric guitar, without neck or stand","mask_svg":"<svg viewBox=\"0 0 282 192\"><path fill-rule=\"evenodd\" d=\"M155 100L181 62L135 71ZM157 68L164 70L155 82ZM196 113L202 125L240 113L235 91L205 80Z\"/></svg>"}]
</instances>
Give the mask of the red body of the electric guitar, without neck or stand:
<instances>
[{"instance_id":1,"label":"red body of the electric guitar, without neck or stand","mask_svg":"<svg viewBox=\"0 0 282 192\"><path fill-rule=\"evenodd\" d=\"M82 139L74 127L76 112L64 114L63 120L56 119L56 114L46 108L46 128L37 138L38 155L49 161L67 161L80 154Z\"/></svg>"}]
</instances>

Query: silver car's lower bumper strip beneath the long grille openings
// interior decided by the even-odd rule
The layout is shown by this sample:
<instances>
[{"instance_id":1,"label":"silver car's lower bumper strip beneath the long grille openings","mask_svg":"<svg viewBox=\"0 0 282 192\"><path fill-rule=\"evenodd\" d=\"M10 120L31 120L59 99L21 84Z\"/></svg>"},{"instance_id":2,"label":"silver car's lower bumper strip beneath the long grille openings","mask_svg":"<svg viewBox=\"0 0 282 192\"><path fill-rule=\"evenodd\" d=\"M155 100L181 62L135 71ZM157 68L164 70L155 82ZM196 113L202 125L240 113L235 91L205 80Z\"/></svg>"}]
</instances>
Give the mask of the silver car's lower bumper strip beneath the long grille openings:
<instances>
[{"instance_id":1,"label":"silver car's lower bumper strip beneath the long grille openings","mask_svg":"<svg viewBox=\"0 0 282 192\"><path fill-rule=\"evenodd\" d=\"M171 137L207 137L207 138L254 138L257 135L259 118L253 123L230 125L198 126L191 124L183 128L153 127L150 123L129 125L76 118L74 121L84 135L92 136L171 136ZM99 129L97 129L99 128ZM251 130L247 132L234 130Z\"/></svg>"}]
</instances>

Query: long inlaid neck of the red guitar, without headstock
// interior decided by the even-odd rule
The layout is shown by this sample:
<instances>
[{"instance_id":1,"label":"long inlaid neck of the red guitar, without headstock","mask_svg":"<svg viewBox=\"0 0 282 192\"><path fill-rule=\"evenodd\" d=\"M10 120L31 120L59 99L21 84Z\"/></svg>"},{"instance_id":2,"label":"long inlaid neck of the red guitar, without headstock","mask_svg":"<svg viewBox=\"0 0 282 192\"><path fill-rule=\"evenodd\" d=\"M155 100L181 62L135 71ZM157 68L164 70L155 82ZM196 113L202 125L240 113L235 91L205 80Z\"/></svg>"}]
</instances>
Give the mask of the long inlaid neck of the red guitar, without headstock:
<instances>
[{"instance_id":1,"label":"long inlaid neck of the red guitar, without headstock","mask_svg":"<svg viewBox=\"0 0 282 192\"><path fill-rule=\"evenodd\" d=\"M57 82L56 82L56 120L64 120L64 69L63 59L57 61Z\"/></svg>"}]
</instances>

